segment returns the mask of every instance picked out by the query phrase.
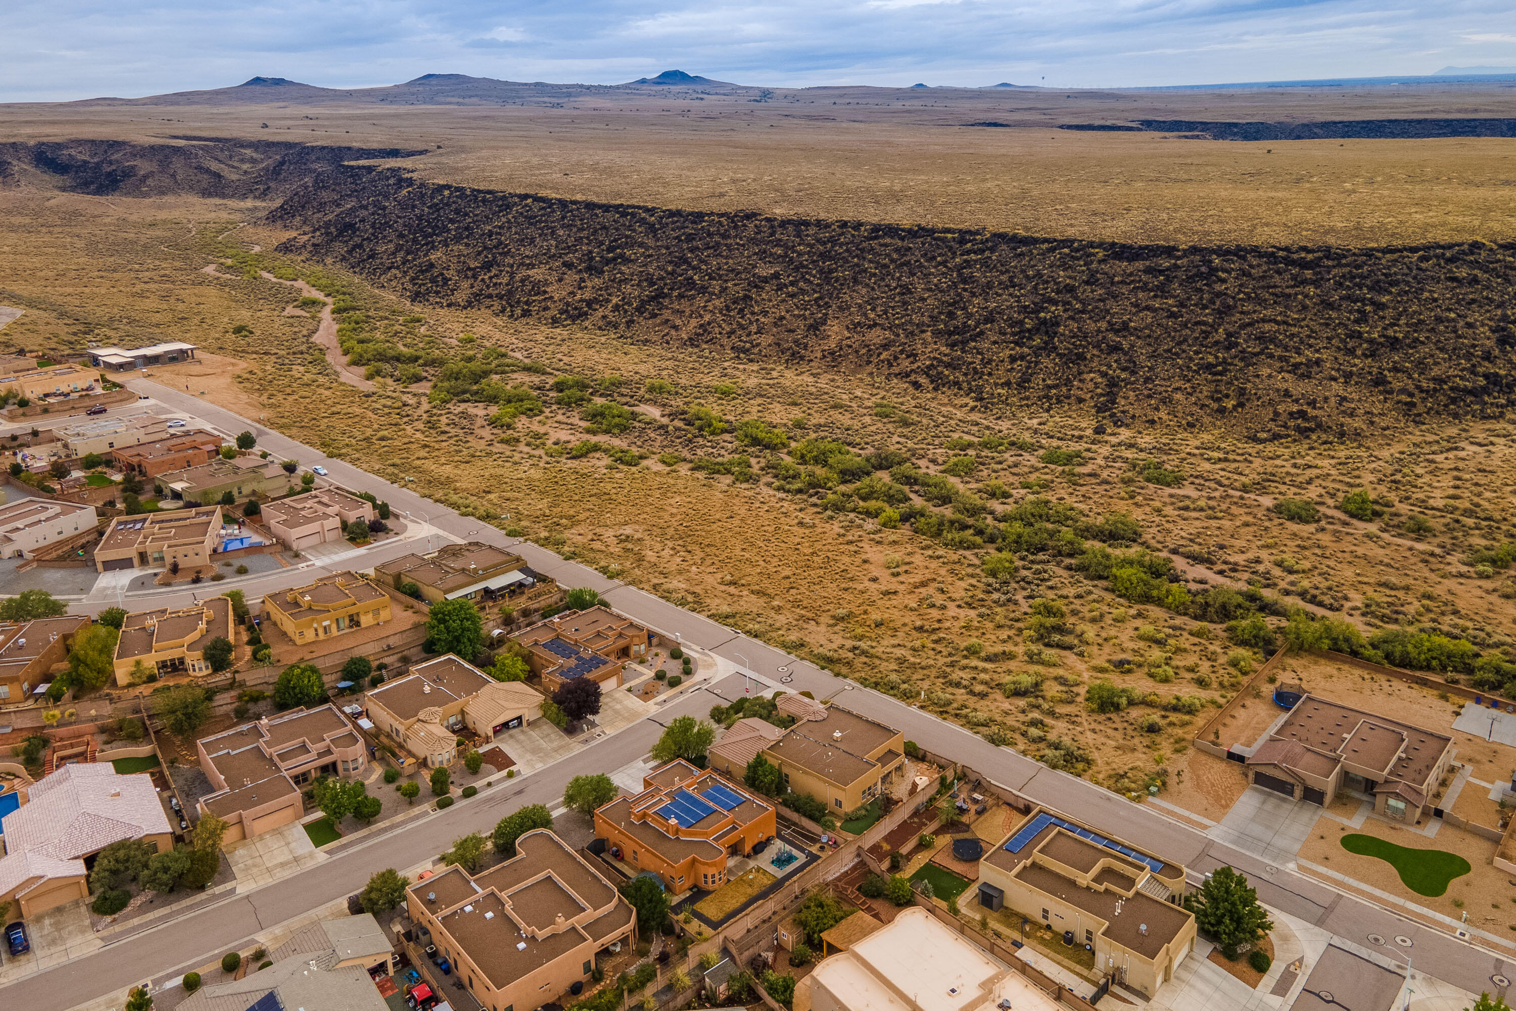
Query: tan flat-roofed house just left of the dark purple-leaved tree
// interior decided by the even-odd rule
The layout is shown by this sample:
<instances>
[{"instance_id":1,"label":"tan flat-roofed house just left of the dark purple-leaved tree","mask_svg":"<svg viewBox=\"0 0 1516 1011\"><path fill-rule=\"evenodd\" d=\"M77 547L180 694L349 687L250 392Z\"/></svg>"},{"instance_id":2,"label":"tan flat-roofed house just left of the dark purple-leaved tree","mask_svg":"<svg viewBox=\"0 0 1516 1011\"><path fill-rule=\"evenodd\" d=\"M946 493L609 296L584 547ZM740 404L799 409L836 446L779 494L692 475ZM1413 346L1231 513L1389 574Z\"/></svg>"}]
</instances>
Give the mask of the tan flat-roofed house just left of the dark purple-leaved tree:
<instances>
[{"instance_id":1,"label":"tan flat-roofed house just left of the dark purple-leaved tree","mask_svg":"<svg viewBox=\"0 0 1516 1011\"><path fill-rule=\"evenodd\" d=\"M367 705L376 729L434 767L458 758L462 728L493 741L543 714L543 696L535 688L520 681L499 682L452 653L379 685L368 693Z\"/></svg>"}]
</instances>

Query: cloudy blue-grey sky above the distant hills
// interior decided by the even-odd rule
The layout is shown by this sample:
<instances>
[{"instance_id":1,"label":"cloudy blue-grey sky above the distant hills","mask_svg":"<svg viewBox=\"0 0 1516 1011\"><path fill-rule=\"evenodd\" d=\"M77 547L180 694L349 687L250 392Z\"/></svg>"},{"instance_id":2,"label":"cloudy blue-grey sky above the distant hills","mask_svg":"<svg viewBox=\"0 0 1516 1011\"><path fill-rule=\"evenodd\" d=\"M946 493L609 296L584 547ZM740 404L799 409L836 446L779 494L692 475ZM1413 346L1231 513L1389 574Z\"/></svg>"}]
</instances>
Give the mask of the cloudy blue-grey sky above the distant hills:
<instances>
[{"instance_id":1,"label":"cloudy blue-grey sky above the distant hills","mask_svg":"<svg viewBox=\"0 0 1516 1011\"><path fill-rule=\"evenodd\" d=\"M1516 67L1510 0L3 0L0 100L465 73L1058 88Z\"/></svg>"}]
</instances>

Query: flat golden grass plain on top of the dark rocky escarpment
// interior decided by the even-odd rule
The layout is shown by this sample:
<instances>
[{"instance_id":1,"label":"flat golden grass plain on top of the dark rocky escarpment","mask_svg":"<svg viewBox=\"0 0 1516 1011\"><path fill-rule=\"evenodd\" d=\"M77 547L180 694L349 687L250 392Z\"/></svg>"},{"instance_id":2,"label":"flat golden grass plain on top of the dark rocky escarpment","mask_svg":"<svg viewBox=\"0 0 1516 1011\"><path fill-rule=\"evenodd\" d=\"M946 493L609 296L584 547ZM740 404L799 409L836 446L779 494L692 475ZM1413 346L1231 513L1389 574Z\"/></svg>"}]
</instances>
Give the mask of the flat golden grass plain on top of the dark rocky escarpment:
<instances>
[{"instance_id":1,"label":"flat golden grass plain on top of the dark rocky escarpment","mask_svg":"<svg viewBox=\"0 0 1516 1011\"><path fill-rule=\"evenodd\" d=\"M511 192L1135 243L1516 236L1516 139L1233 142L1055 129L1135 118L1501 117L1511 115L1510 86L752 94L600 91L567 95L561 108L531 97L508 106L8 105L0 135L426 147L423 159L408 159L423 177Z\"/></svg>"}]
</instances>

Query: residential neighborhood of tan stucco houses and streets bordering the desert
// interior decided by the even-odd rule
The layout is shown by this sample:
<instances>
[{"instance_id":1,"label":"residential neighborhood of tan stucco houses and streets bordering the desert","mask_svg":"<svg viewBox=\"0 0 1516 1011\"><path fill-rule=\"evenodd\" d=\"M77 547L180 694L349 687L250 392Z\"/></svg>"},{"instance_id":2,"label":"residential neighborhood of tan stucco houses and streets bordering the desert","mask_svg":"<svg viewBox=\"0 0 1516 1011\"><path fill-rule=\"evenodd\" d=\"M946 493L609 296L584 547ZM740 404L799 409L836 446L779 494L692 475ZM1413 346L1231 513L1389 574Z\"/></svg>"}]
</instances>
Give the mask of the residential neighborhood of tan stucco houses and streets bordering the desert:
<instances>
[{"instance_id":1,"label":"residential neighborhood of tan stucco houses and streets bordering the desert","mask_svg":"<svg viewBox=\"0 0 1516 1011\"><path fill-rule=\"evenodd\" d=\"M1384 944L1342 937L1280 884L1417 914L1414 891L1314 858L1336 825L1436 826L1455 853L1484 847L1474 875L1516 873L1504 825L1460 799L1505 797L1486 770L1516 767L1516 734L1467 764L1474 720L1505 726L1483 700L1439 725L1416 688L1425 706L1381 712L1281 652L1289 678L1257 671L1193 728L1236 776L1211 817L1184 793L1054 773L735 632L702 646L684 612L591 588L606 581L531 543L440 529L393 505L403 490L180 430L71 423L102 461L83 476L103 482L77 482L92 499L20 482L0 506L6 553L38 565L20 576L89 581L0 623L0 903L24 938L0 947L0 991L144 943L132 985L165 1009L1190 1011L1307 1008L1311 981L1340 979L1378 1011L1407 988L1442 1011L1472 990L1434 969L1392 985L1396 931L1504 950L1425 917ZM158 508L106 503L133 474ZM368 884L337 885L338 867ZM217 903L256 896L280 912L209 941ZM1213 902L1251 926L1226 932ZM130 940L144 925L208 940L168 964Z\"/></svg>"}]
</instances>

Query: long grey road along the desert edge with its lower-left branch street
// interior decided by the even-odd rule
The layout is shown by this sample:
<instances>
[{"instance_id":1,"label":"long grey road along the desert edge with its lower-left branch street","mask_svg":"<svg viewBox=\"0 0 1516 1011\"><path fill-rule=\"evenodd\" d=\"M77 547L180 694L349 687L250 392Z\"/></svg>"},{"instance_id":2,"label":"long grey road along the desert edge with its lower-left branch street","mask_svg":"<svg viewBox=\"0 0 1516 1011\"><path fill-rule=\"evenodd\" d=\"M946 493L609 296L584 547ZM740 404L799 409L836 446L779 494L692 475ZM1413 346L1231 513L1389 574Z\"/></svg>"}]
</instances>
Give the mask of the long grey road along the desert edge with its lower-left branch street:
<instances>
[{"instance_id":1,"label":"long grey road along the desert edge with its lower-left branch street","mask_svg":"<svg viewBox=\"0 0 1516 1011\"><path fill-rule=\"evenodd\" d=\"M235 435L243 429L250 429L258 435L259 446L271 453L299 459L305 467L323 464L338 484L356 491L371 491L388 500L391 508L414 511L418 517L456 537L471 537L509 547L526 558L540 573L570 587L593 587L605 594L619 611L666 635L678 635L682 641L716 652L779 682L787 690L810 690L819 699L837 697L847 708L901 728L908 740L914 740L929 750L952 755L1002 787L1010 787L1040 803L1055 806L1096 828L1161 853L1184 864L1193 875L1202 875L1223 864L1233 865L1248 875L1263 902L1342 938L1375 947L1367 940L1369 934L1386 938L1405 937L1411 941L1410 949L1392 941L1389 947L1378 950L1390 958L1411 955L1422 972L1431 972L1439 979L1474 993L1481 990L1496 993L1498 987L1490 981L1495 973L1516 978L1516 961L1489 949L1466 944L1448 931L1398 916L1330 888L1313 878L1283 867L1269 867L1266 861L1220 844L1204 832L1160 814L1155 808L1131 803L1095 784L1054 772L1008 747L994 747L957 725L911 708L901 700L861 688L850 681L835 678L717 621L676 608L635 587L606 579L578 562L564 561L543 547L508 538L488 524L470 517L459 517L437 502L423 499L408 488L391 485L350 464L327 459L308 446L294 443L215 405L152 380L136 379L129 380L127 385L149 393L174 409L196 414L224 434ZM699 715L709 708L709 699L691 694L672 708ZM374 870L390 865L406 867L418 862L428 853L443 852L456 835L493 826L500 815L518 803L556 800L562 796L562 787L572 776L619 768L646 753L658 734L656 723L638 723L597 741L573 758L540 770L523 781L522 787L517 788L518 796L496 790L473 803L456 805L438 815L408 823L396 832L340 853L309 872L274 882L249 896L208 906L146 935L117 941L94 955L18 981L0 990L0 1003L18 1008L67 1008L114 988L124 988L147 976L203 962L208 955L226 950L256 931L267 929L329 899L356 891ZM62 999L62 994L67 994L68 999Z\"/></svg>"}]
</instances>

